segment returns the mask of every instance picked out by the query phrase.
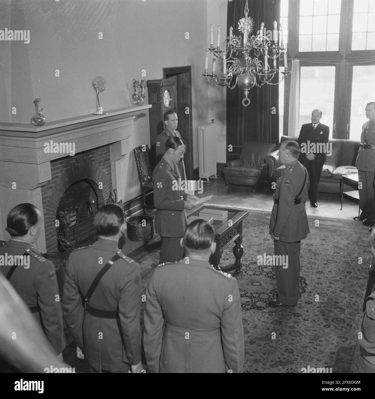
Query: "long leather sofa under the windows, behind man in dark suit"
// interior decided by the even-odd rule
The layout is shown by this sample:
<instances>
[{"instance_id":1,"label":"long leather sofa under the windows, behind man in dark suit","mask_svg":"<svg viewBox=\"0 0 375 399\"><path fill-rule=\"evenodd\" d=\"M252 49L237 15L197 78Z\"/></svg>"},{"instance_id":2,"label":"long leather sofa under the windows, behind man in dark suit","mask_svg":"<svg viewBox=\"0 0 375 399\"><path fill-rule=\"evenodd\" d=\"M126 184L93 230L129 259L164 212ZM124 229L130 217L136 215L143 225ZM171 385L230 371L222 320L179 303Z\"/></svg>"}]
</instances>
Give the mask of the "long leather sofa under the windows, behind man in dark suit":
<instances>
[{"instance_id":1,"label":"long leather sofa under the windows, behind man in dark suit","mask_svg":"<svg viewBox=\"0 0 375 399\"><path fill-rule=\"evenodd\" d=\"M297 136L282 136L280 144L285 140L297 141ZM343 174L357 173L355 160L357 159L359 141L344 140L332 138L329 140L332 144L332 155L327 155L326 163L322 169L320 177L319 192L339 194L340 180ZM278 150L266 155L264 161L268 165L268 186L271 188L272 182L276 182L282 174L285 166L281 165L278 158ZM345 184L344 191L354 190L353 187Z\"/></svg>"}]
</instances>

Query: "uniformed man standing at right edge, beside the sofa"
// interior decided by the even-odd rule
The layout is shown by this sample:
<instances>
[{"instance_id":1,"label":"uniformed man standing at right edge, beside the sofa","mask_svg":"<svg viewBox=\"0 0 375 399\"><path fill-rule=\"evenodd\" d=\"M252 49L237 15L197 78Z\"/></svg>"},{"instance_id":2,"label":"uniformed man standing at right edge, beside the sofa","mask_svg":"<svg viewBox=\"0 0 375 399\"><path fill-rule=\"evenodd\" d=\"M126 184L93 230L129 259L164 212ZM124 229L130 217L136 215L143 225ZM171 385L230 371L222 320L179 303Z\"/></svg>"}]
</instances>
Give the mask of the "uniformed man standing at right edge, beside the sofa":
<instances>
[{"instance_id":1,"label":"uniformed man standing at right edge, beside the sofa","mask_svg":"<svg viewBox=\"0 0 375 399\"><path fill-rule=\"evenodd\" d=\"M358 169L359 207L361 215L353 219L362 220L365 226L375 224L375 102L366 105L366 117L369 119L362 126L361 147L359 148L356 166Z\"/></svg>"}]
</instances>

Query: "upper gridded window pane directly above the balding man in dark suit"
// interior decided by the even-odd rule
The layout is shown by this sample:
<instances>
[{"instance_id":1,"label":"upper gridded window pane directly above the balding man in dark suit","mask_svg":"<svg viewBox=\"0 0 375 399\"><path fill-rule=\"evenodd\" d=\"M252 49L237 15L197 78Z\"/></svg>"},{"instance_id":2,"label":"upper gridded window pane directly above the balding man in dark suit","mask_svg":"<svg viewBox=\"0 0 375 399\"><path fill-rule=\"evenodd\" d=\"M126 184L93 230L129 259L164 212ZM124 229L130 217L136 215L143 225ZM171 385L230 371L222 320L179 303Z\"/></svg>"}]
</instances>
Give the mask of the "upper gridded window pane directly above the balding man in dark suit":
<instances>
[{"instance_id":1,"label":"upper gridded window pane directly above the balding man in dark suit","mask_svg":"<svg viewBox=\"0 0 375 399\"><path fill-rule=\"evenodd\" d=\"M300 2L299 51L338 51L341 0Z\"/></svg>"}]
</instances>

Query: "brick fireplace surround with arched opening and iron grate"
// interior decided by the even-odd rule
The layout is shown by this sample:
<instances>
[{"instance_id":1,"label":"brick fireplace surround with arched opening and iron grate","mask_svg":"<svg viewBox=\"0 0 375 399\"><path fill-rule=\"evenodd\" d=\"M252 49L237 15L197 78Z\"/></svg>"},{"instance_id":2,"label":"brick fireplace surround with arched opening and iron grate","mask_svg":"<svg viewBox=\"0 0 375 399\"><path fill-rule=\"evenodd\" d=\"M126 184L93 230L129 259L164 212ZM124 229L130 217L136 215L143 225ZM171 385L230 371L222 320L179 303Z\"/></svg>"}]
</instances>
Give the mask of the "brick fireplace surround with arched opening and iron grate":
<instances>
[{"instance_id":1,"label":"brick fireplace surround with arched opening and iron grate","mask_svg":"<svg viewBox=\"0 0 375 399\"><path fill-rule=\"evenodd\" d=\"M65 238L73 248L94 235L93 214L112 190L110 146L51 161L51 180L41 188L47 252Z\"/></svg>"}]
</instances>

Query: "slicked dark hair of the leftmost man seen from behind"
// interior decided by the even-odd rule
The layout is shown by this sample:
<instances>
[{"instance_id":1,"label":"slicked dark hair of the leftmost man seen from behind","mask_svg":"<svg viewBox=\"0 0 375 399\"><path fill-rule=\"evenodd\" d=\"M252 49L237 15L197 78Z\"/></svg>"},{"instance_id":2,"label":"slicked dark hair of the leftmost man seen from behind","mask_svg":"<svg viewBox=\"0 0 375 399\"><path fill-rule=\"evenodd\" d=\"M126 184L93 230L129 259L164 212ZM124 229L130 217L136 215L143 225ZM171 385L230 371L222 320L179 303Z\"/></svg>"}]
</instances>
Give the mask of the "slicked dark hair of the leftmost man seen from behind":
<instances>
[{"instance_id":1,"label":"slicked dark hair of the leftmost man seen from behind","mask_svg":"<svg viewBox=\"0 0 375 399\"><path fill-rule=\"evenodd\" d=\"M10 210L6 218L6 231L12 237L26 235L31 227L38 224L39 209L32 203L20 203Z\"/></svg>"}]
</instances>

